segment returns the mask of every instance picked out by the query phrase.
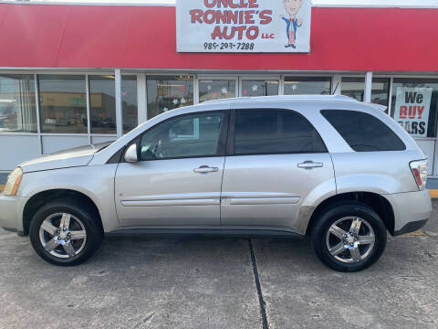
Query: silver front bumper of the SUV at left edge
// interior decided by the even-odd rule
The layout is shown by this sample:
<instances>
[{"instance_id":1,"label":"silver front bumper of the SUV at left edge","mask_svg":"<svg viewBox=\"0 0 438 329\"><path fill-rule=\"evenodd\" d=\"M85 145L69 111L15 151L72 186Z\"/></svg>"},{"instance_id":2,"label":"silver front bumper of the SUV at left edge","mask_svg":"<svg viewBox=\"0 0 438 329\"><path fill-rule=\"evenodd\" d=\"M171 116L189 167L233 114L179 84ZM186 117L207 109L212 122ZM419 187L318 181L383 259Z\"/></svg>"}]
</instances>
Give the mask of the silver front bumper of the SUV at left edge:
<instances>
[{"instance_id":1,"label":"silver front bumper of the SUV at left edge","mask_svg":"<svg viewBox=\"0 0 438 329\"><path fill-rule=\"evenodd\" d=\"M0 194L0 227L23 232L23 209L26 197Z\"/></svg>"}]
</instances>

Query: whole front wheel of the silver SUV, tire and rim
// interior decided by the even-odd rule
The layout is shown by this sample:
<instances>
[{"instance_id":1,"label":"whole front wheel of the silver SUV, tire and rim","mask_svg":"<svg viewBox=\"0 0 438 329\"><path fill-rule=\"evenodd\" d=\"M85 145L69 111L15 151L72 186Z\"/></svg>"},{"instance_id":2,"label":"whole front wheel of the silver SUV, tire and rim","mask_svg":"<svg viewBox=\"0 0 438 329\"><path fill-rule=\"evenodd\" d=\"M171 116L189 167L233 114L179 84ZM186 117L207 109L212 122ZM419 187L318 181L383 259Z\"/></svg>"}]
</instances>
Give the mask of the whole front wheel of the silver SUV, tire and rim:
<instances>
[{"instance_id":1,"label":"whole front wheel of the silver SUV, tire and rim","mask_svg":"<svg viewBox=\"0 0 438 329\"><path fill-rule=\"evenodd\" d=\"M88 260L103 238L96 211L75 198L57 199L36 211L29 235L40 257L63 266Z\"/></svg>"}]
</instances>

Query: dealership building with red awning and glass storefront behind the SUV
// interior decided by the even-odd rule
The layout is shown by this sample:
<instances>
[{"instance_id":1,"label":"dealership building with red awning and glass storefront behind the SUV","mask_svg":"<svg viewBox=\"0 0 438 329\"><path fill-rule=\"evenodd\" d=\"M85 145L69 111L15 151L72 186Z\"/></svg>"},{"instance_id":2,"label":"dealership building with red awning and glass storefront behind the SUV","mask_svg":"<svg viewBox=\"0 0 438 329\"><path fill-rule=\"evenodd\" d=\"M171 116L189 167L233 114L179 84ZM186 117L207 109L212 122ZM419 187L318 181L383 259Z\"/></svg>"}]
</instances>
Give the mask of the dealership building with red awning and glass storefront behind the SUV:
<instances>
[{"instance_id":1,"label":"dealership building with red awning and glass storefront behind the SUV","mask_svg":"<svg viewBox=\"0 0 438 329\"><path fill-rule=\"evenodd\" d=\"M284 19L282 0L262 8L274 2L0 2L0 185L20 162L113 141L181 106L334 93L386 106L438 186L438 8L313 6Z\"/></svg>"}]
</instances>

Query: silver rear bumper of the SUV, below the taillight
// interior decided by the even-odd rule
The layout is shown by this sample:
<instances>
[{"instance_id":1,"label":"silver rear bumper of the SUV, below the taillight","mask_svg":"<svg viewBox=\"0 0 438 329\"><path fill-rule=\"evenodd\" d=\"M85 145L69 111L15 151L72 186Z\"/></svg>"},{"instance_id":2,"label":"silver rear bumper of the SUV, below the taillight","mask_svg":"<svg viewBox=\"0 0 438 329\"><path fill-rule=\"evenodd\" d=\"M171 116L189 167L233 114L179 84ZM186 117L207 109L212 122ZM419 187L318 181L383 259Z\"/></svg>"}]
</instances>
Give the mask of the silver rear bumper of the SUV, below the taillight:
<instances>
[{"instance_id":1,"label":"silver rear bumper of the SUV, below the taillight","mask_svg":"<svg viewBox=\"0 0 438 329\"><path fill-rule=\"evenodd\" d=\"M422 228L431 217L432 200L427 189L386 197L394 210L394 236Z\"/></svg>"}]
</instances>

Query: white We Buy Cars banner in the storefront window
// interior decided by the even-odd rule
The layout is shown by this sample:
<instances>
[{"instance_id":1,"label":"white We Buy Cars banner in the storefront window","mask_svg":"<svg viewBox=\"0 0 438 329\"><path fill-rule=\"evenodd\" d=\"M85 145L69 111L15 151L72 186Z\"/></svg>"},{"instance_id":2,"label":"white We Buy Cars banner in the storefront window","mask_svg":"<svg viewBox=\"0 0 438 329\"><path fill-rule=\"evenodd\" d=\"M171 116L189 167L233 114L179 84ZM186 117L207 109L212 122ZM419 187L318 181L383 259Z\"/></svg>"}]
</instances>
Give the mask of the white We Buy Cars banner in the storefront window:
<instances>
[{"instance_id":1,"label":"white We Buy Cars banner in the storefront window","mask_svg":"<svg viewBox=\"0 0 438 329\"><path fill-rule=\"evenodd\" d=\"M394 120L414 137L427 137L432 88L397 88Z\"/></svg>"}]
</instances>

